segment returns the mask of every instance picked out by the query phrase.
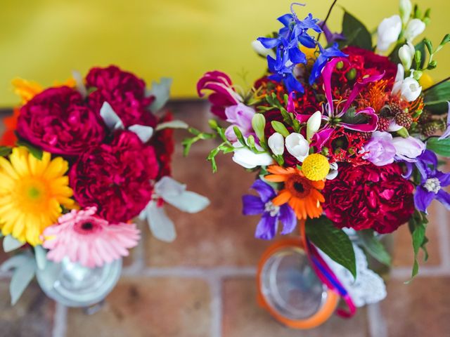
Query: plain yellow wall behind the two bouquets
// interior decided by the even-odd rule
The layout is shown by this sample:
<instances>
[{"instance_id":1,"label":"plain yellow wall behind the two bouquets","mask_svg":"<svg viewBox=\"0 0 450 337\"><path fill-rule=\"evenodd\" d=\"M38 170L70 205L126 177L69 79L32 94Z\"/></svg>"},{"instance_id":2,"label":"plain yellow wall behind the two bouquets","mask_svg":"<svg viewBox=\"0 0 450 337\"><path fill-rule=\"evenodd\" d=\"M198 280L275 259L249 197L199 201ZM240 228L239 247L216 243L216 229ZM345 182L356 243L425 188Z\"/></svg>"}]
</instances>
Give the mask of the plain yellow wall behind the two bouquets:
<instances>
[{"instance_id":1,"label":"plain yellow wall behind the two bouquets","mask_svg":"<svg viewBox=\"0 0 450 337\"><path fill-rule=\"evenodd\" d=\"M324 18L331 0L308 1L298 8ZM435 44L450 32L450 1L419 0L432 7L426 36ZM288 0L0 0L0 106L17 103L10 80L20 76L44 85L64 80L72 69L83 74L93 65L117 64L150 81L174 78L175 97L195 95L195 83L207 70L224 70L249 83L264 70L252 39L278 29ZM340 0L375 29L397 13L397 0ZM330 26L340 28L335 7ZM435 79L450 74L450 46L438 55ZM242 76L241 76L242 77ZM239 81L238 81L239 82ZM243 83L243 81L240 81Z\"/></svg>"}]
</instances>

